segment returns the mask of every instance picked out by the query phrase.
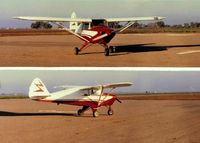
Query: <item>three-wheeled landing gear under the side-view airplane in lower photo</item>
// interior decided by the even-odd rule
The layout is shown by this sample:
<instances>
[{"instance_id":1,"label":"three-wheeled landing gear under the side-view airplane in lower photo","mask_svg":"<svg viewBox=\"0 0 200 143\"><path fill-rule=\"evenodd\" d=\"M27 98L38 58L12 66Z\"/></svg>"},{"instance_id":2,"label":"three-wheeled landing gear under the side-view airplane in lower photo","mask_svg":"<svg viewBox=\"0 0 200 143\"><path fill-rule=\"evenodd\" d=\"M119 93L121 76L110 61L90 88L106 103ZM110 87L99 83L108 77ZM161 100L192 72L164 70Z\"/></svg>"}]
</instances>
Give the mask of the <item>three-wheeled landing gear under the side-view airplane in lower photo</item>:
<instances>
[{"instance_id":1,"label":"three-wheeled landing gear under the side-view airplane in lower photo","mask_svg":"<svg viewBox=\"0 0 200 143\"><path fill-rule=\"evenodd\" d=\"M83 106L82 109L79 109L79 110L77 111L78 116L82 116L83 113L84 113L86 110L88 110L89 108L90 108L89 106ZM108 108L107 114L108 114L109 116L111 116L111 115L114 114L114 111L112 110L111 107ZM98 110L92 109L92 115L93 115L93 117L98 117L98 116L99 116Z\"/></svg>"}]
</instances>

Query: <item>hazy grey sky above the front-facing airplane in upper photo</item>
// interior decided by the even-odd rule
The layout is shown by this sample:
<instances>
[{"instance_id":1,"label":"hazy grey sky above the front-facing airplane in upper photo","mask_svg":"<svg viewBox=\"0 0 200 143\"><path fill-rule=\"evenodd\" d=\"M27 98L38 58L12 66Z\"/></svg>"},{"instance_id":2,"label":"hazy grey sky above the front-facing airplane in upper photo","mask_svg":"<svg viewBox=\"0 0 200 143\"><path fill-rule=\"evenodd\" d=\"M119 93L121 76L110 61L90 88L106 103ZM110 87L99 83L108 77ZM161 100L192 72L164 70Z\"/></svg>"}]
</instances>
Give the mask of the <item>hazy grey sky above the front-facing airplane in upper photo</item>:
<instances>
[{"instance_id":1,"label":"hazy grey sky above the front-facing airplane in upper photo","mask_svg":"<svg viewBox=\"0 0 200 143\"><path fill-rule=\"evenodd\" d=\"M30 27L15 16L81 18L164 16L166 24L200 22L199 0L1 0L0 27Z\"/></svg>"}]
</instances>

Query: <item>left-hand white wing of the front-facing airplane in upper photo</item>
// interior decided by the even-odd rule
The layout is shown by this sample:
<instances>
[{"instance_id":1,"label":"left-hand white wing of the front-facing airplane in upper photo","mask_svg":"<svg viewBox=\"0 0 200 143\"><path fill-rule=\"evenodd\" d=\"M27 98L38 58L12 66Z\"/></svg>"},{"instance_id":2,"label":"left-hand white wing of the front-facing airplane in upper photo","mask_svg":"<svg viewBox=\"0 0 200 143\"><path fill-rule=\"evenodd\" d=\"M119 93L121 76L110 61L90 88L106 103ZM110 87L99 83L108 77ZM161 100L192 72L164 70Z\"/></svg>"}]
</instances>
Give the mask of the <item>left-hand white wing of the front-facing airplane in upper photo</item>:
<instances>
[{"instance_id":1,"label":"left-hand white wing of the front-facing airplane in upper photo","mask_svg":"<svg viewBox=\"0 0 200 143\"><path fill-rule=\"evenodd\" d=\"M19 17L14 17L14 19L29 20L29 21L46 21L46 22L80 22L80 23L92 22L92 19L87 19L87 18L56 18L56 17L19 16Z\"/></svg>"}]
</instances>

